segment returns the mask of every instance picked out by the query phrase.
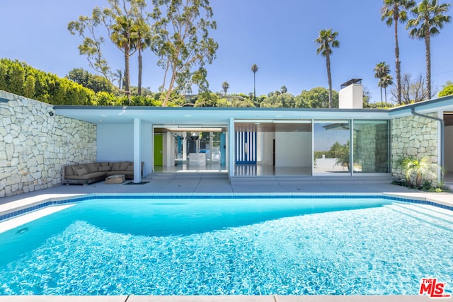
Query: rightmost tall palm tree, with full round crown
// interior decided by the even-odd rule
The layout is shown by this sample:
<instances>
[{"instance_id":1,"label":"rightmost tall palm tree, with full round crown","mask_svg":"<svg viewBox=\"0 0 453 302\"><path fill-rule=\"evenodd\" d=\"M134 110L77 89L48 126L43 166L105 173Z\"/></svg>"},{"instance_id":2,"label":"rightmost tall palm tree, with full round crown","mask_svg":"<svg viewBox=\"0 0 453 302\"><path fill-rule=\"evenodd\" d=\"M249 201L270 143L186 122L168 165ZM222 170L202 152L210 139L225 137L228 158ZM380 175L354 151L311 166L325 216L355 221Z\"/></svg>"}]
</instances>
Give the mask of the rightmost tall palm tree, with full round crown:
<instances>
[{"instance_id":1,"label":"rightmost tall palm tree, with full round crown","mask_svg":"<svg viewBox=\"0 0 453 302\"><path fill-rule=\"evenodd\" d=\"M425 40L426 57L426 94L431 98L431 37L440 33L445 23L452 17L445 15L451 4L438 4L437 0L422 0L412 9L415 19L408 21L409 35Z\"/></svg>"}]
</instances>

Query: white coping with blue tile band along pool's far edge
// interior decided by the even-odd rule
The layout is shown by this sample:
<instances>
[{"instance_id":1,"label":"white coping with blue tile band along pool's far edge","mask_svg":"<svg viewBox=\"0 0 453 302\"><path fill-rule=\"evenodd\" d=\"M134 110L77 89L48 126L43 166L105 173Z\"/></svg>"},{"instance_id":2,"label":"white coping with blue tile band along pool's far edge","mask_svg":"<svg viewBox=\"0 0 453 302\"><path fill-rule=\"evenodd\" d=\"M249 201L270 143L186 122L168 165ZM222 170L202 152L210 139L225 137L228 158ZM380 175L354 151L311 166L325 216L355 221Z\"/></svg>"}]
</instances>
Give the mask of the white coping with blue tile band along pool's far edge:
<instances>
[{"instance_id":1,"label":"white coping with blue tile band along pool's far edge","mask_svg":"<svg viewBox=\"0 0 453 302\"><path fill-rule=\"evenodd\" d=\"M23 214L30 214L33 211L45 209L62 204L71 204L89 199L120 199L133 197L137 198L156 198L156 199L182 199L187 197L202 199L220 199L234 197L238 199L248 198L380 198L395 200L399 202L409 202L415 204L427 204L433 207L440 207L453 211L453 204L432 197L423 197L417 194L405 193L88 193L88 194L42 194L36 197L20 199L15 202L0 204L0 223L8 221Z\"/></svg>"}]
</instances>

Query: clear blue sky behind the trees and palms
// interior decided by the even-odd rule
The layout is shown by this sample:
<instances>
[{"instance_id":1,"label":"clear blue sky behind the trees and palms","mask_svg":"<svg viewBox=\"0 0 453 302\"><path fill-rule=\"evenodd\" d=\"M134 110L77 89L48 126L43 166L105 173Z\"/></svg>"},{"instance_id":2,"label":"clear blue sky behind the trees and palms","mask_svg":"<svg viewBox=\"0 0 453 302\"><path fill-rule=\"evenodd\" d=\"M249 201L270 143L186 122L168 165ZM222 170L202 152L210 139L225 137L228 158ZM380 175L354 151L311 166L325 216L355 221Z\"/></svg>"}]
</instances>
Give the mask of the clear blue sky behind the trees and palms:
<instances>
[{"instance_id":1,"label":"clear blue sky behind the trees and palms","mask_svg":"<svg viewBox=\"0 0 453 302\"><path fill-rule=\"evenodd\" d=\"M313 40L319 30L328 28L338 31L340 41L331 57L334 89L338 91L349 79L363 79L372 102L377 102L380 95L374 66L386 62L395 77L394 32L381 21L382 1L211 0L210 4L217 21L212 36L219 43L217 59L207 66L212 91L222 91L223 81L229 82L229 93L253 91L252 64L258 65L257 95L280 90L283 85L294 95L327 87L326 60L316 55ZM19 59L58 76L76 67L93 72L79 55L81 38L69 34L67 23L91 14L96 5L106 6L107 1L2 1L0 57ZM439 90L446 81L453 81L452 41L453 24L432 38L432 81ZM402 72L425 75L423 40L409 38L400 26L399 42ZM112 69L123 68L122 54L111 45L105 47ZM136 57L131 65L131 81L136 85ZM163 76L154 54L146 52L143 85L157 91Z\"/></svg>"}]
</instances>

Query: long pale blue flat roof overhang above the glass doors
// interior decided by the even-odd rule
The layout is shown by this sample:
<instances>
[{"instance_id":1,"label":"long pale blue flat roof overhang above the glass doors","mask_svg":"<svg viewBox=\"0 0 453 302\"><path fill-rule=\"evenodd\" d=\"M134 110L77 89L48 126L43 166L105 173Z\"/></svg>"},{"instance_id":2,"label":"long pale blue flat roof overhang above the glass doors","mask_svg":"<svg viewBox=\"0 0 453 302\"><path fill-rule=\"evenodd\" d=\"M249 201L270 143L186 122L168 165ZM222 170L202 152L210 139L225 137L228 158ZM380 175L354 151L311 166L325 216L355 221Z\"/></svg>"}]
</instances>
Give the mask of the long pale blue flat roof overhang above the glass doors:
<instances>
[{"instance_id":1,"label":"long pale blue flat roof overhang above the glass doors","mask_svg":"<svg viewBox=\"0 0 453 302\"><path fill-rule=\"evenodd\" d=\"M387 120L388 110L305 108L161 108L54 106L55 113L95 124L130 124L140 119L149 124L228 124L234 120Z\"/></svg>"}]
</instances>

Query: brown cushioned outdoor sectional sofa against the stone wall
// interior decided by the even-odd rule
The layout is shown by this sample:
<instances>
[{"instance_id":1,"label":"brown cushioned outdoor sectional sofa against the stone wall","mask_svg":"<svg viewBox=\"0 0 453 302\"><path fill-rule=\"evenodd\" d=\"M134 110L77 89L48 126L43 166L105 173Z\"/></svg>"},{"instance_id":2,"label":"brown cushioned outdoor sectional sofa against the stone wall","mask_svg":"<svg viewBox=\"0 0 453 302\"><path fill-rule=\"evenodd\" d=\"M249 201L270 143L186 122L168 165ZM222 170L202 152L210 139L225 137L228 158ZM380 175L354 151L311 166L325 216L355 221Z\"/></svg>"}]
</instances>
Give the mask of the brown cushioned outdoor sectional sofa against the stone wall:
<instances>
[{"instance_id":1,"label":"brown cushioned outdoor sectional sofa against the stone wall","mask_svg":"<svg viewBox=\"0 0 453 302\"><path fill-rule=\"evenodd\" d=\"M132 161L82 163L64 165L63 183L66 185L88 185L105 180L110 175L123 174L126 179L134 179L134 163ZM143 175L143 162L142 162Z\"/></svg>"}]
</instances>

